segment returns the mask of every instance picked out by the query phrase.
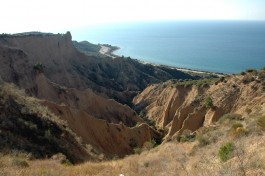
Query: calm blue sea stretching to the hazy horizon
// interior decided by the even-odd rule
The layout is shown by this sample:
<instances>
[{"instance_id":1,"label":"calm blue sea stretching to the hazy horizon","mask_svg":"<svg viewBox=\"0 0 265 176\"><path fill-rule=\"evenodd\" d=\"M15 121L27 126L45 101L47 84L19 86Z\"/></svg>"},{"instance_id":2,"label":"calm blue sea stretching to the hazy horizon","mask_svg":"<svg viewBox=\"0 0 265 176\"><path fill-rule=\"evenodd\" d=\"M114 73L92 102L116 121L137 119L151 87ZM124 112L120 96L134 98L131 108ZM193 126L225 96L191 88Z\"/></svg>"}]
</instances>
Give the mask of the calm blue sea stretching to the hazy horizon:
<instances>
[{"instance_id":1,"label":"calm blue sea stretching to the hazy horizon","mask_svg":"<svg viewBox=\"0 0 265 176\"><path fill-rule=\"evenodd\" d=\"M239 73L265 67L265 21L134 22L75 29L74 40L119 46L154 64Z\"/></svg>"}]
</instances>

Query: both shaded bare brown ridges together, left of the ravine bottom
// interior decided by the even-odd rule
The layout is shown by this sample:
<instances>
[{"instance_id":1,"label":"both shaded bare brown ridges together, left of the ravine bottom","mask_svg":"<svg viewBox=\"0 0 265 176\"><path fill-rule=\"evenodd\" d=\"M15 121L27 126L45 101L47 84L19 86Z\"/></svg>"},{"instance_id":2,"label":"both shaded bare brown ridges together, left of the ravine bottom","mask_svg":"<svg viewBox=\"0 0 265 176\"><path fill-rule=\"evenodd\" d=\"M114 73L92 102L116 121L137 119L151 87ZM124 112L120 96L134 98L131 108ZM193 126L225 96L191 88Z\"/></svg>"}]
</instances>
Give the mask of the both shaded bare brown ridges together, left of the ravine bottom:
<instances>
[{"instance_id":1,"label":"both shaded bare brown ridges together, left of the ravine bottom","mask_svg":"<svg viewBox=\"0 0 265 176\"><path fill-rule=\"evenodd\" d=\"M37 95L46 99L57 116L66 120L70 128L85 144L107 156L125 156L159 134L146 124L128 106L96 95L92 90L62 88L49 82L43 74L36 77ZM130 128L131 126L131 128Z\"/></svg>"}]
</instances>

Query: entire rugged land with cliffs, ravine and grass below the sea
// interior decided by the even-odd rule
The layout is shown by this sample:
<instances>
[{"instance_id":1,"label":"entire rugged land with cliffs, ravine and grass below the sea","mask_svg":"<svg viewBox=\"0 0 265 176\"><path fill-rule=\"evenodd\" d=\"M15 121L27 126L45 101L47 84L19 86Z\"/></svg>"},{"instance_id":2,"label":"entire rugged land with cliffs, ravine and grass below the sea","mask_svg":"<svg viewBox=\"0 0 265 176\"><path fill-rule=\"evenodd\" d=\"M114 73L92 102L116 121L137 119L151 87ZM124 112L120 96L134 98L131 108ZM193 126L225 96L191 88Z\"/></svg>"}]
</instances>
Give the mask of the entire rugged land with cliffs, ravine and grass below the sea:
<instances>
[{"instance_id":1,"label":"entire rugged land with cliffs, ravine and grass below the sea","mask_svg":"<svg viewBox=\"0 0 265 176\"><path fill-rule=\"evenodd\" d=\"M0 175L262 175L265 69L219 76L1 35Z\"/></svg>"}]
</instances>

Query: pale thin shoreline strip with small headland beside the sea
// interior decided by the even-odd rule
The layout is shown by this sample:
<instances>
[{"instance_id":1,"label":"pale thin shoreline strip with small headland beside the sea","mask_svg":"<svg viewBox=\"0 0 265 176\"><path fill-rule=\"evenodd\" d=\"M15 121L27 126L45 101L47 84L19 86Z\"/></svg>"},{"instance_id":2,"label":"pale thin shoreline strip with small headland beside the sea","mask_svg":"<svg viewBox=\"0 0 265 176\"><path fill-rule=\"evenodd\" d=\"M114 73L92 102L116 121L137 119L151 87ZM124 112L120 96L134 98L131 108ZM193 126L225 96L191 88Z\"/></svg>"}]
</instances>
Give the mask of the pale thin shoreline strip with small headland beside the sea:
<instances>
[{"instance_id":1,"label":"pale thin shoreline strip with small headland beside the sea","mask_svg":"<svg viewBox=\"0 0 265 176\"><path fill-rule=\"evenodd\" d=\"M112 59L117 58L117 57L124 57L124 56L119 56L119 55L116 55L116 54L113 53L114 51L119 50L120 47L112 46L112 45L109 45L109 44L100 44L100 47L101 48L99 50L99 53L102 54L102 55L111 57ZM131 57L128 56L128 58L131 58ZM222 77L222 76L225 76L225 75L230 75L230 74L221 73L221 72L211 72L211 71L204 71L204 70L197 70L197 69L169 66L169 65L163 65L163 64L154 64L154 63L151 63L151 62L146 62L146 61L142 61L142 60L135 59L135 58L131 58L131 59L134 59L137 62L142 63L142 64L150 64L150 65L153 65L155 67L166 67L166 68L176 69L176 70L187 72L187 73L208 74L208 75L215 75L215 76L218 76L218 77Z\"/></svg>"}]
</instances>

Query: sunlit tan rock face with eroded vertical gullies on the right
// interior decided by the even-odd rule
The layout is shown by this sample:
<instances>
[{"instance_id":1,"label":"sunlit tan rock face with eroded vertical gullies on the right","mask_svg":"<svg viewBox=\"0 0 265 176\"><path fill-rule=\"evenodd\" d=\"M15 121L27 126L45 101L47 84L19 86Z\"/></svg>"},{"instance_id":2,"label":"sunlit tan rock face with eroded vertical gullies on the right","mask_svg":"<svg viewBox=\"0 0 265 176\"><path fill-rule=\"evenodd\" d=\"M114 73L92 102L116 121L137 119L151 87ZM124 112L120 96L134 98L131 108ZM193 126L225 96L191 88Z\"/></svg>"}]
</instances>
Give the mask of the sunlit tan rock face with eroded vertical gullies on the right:
<instances>
[{"instance_id":1,"label":"sunlit tan rock face with eroded vertical gullies on the right","mask_svg":"<svg viewBox=\"0 0 265 176\"><path fill-rule=\"evenodd\" d=\"M264 109L263 72L227 77L224 82L203 88L176 85L172 81L151 85L134 98L134 104L154 119L159 128L170 127L167 135L170 138L185 129L195 131L208 126L226 113L244 117L251 109ZM213 101L211 108L205 107L207 97Z\"/></svg>"}]
</instances>

